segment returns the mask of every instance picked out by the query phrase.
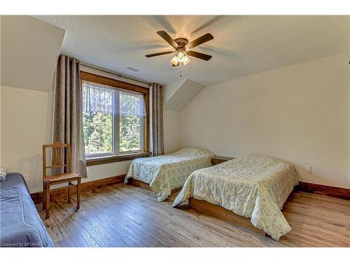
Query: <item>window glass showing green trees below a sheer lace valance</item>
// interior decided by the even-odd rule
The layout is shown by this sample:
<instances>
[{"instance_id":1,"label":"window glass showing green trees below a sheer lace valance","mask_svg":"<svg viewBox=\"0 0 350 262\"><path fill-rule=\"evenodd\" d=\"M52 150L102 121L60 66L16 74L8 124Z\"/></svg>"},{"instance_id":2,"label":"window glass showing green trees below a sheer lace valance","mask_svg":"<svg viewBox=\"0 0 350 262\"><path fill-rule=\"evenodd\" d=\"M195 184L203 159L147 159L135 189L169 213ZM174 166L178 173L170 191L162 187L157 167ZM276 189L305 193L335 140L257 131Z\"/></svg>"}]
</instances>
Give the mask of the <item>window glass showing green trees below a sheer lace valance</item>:
<instances>
[{"instance_id":1,"label":"window glass showing green trees below a sheer lace valance","mask_svg":"<svg viewBox=\"0 0 350 262\"><path fill-rule=\"evenodd\" d=\"M83 82L85 154L118 154L141 150L143 116L133 113L139 110L139 99L143 99L142 96L135 96L131 92L114 92L102 85ZM118 114L121 111L123 115Z\"/></svg>"}]
</instances>

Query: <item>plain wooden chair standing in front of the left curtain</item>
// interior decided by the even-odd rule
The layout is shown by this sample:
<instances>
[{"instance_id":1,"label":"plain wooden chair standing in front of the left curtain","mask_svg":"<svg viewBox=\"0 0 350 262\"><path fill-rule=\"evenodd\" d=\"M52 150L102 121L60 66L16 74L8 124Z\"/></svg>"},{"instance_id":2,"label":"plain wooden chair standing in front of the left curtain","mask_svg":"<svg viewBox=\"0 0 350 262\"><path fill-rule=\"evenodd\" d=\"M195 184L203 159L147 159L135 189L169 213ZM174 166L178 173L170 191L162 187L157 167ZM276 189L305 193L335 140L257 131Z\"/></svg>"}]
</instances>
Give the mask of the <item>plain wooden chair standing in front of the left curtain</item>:
<instances>
[{"instance_id":1,"label":"plain wooden chair standing in front of the left curtain","mask_svg":"<svg viewBox=\"0 0 350 262\"><path fill-rule=\"evenodd\" d=\"M46 148L52 148L52 157L55 163L51 166L46 166ZM64 150L67 152L67 162L64 163ZM63 158L63 159L62 159ZM68 173L57 175L46 175L48 168L63 168L67 169ZM68 182L68 203L71 203L71 187L76 187L76 210L80 208L80 183L81 177L76 173L71 173L71 145L55 143L52 145L43 145L43 210L46 210L45 219L50 218L50 186L52 184L62 184ZM76 181L76 184L72 182Z\"/></svg>"}]
</instances>

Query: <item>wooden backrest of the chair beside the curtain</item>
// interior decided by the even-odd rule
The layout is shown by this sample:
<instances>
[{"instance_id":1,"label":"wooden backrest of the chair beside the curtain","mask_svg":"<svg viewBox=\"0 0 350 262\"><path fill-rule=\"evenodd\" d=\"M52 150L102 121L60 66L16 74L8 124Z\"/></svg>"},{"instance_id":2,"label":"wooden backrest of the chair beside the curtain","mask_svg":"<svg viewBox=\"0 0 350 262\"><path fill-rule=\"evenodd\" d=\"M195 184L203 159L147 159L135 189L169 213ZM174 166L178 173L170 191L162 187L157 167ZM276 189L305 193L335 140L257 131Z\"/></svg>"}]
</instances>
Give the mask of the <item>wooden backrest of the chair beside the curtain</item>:
<instances>
[{"instance_id":1,"label":"wooden backrest of the chair beside the curtain","mask_svg":"<svg viewBox=\"0 0 350 262\"><path fill-rule=\"evenodd\" d=\"M52 148L51 166L46 166L46 148ZM67 163L64 163L64 159L67 159ZM63 168L64 170L65 167L68 168L68 173L71 173L71 144L43 145L43 177L46 177L46 169L48 168Z\"/></svg>"}]
</instances>

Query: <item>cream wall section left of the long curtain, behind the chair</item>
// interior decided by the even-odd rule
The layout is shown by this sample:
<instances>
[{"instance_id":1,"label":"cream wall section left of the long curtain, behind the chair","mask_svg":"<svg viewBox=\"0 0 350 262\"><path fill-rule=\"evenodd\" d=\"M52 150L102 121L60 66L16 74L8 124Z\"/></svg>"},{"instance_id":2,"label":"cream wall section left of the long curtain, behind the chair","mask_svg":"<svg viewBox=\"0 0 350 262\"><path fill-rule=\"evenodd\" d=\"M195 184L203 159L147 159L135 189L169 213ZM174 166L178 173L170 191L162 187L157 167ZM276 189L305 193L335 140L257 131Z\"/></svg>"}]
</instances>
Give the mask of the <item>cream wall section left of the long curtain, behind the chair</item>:
<instances>
[{"instance_id":1,"label":"cream wall section left of the long curtain, behind the chair","mask_svg":"<svg viewBox=\"0 0 350 262\"><path fill-rule=\"evenodd\" d=\"M50 94L1 87L1 165L23 173L31 191L41 189L41 145L51 140Z\"/></svg>"}]
</instances>

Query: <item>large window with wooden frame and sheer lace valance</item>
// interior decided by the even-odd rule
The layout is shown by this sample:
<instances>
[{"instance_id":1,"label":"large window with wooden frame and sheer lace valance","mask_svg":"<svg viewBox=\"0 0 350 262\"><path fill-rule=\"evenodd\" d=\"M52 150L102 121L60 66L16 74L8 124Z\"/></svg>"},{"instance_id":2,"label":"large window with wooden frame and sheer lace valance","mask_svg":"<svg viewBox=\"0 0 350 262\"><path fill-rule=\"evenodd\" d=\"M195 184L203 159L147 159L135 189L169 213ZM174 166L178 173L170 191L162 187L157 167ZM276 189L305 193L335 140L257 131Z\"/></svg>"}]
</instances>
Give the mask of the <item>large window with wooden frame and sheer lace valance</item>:
<instances>
[{"instance_id":1,"label":"large window with wooden frame and sheer lace valance","mask_svg":"<svg viewBox=\"0 0 350 262\"><path fill-rule=\"evenodd\" d=\"M80 75L87 159L148 152L148 88Z\"/></svg>"}]
</instances>

